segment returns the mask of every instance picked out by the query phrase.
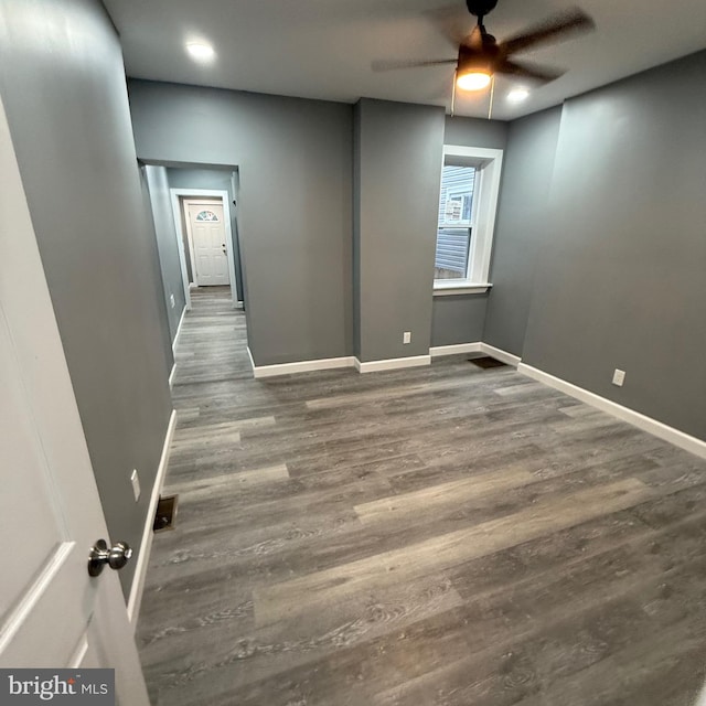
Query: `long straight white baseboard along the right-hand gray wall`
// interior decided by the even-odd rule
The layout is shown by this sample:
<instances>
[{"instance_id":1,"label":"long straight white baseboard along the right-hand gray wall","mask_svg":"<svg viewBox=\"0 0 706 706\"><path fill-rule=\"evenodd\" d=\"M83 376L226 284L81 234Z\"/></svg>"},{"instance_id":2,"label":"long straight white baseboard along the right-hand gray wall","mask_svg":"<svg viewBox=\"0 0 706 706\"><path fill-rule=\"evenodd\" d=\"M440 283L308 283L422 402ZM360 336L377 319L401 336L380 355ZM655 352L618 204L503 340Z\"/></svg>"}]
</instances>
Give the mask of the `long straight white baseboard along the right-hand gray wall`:
<instances>
[{"instance_id":1,"label":"long straight white baseboard along the right-hand gray wall","mask_svg":"<svg viewBox=\"0 0 706 706\"><path fill-rule=\"evenodd\" d=\"M670 427L662 421L657 421L652 417L634 411L634 409L623 407L622 405L607 399L606 397L601 397L596 393L591 393L584 387L578 387L573 383L567 383L560 377L549 375L549 373L532 367L526 363L520 363L517 372L544 383L549 387L554 387L555 389L566 393L576 399L580 399L588 405L597 407L602 411L607 411L608 414L613 415L614 417L618 417L619 419L622 419L623 421L627 421L652 436L664 439L664 441L668 441L681 449L689 451L700 458L706 458L706 441L703 441L702 439L697 439L696 437L685 434L684 431L680 431L674 427Z\"/></svg>"}]
</instances>

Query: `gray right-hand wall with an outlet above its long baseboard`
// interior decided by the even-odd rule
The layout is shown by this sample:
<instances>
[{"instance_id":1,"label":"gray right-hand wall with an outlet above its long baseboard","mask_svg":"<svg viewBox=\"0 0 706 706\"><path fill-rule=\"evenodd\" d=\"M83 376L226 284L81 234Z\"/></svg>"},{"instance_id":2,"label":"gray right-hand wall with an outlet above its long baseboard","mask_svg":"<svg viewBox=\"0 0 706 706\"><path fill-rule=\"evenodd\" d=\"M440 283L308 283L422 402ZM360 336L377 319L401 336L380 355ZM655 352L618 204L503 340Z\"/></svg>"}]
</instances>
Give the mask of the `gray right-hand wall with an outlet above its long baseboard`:
<instances>
[{"instance_id":1,"label":"gray right-hand wall with an outlet above its long baseboard","mask_svg":"<svg viewBox=\"0 0 706 706\"><path fill-rule=\"evenodd\" d=\"M704 76L706 52L565 104L522 350L530 365L702 439ZM520 207L509 196L502 208ZM498 271L516 267L503 259ZM610 384L616 367L623 387Z\"/></svg>"}]
</instances>

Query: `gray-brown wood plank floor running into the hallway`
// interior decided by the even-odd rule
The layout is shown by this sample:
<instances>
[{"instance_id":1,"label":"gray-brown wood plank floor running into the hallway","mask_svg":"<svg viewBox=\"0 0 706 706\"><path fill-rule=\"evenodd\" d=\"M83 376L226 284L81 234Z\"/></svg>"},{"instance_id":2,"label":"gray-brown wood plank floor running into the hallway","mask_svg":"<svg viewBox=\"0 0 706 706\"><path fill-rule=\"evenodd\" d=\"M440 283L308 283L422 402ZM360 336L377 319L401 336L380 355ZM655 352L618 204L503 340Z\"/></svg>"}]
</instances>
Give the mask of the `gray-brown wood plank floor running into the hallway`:
<instances>
[{"instance_id":1,"label":"gray-brown wood plank floor running into the hallway","mask_svg":"<svg viewBox=\"0 0 706 706\"><path fill-rule=\"evenodd\" d=\"M706 462L468 356L255 381L199 291L138 628L159 706L672 706Z\"/></svg>"}]
</instances>

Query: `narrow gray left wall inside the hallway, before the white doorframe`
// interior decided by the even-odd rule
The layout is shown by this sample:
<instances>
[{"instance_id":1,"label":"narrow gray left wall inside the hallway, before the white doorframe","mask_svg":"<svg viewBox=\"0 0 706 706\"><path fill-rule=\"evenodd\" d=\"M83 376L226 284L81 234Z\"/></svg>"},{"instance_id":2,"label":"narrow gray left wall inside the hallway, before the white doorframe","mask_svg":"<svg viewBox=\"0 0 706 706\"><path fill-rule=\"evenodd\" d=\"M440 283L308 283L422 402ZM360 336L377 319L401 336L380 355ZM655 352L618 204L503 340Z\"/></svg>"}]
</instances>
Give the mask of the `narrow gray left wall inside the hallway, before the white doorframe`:
<instances>
[{"instance_id":1,"label":"narrow gray left wall inside the hallway, before the white doorframe","mask_svg":"<svg viewBox=\"0 0 706 706\"><path fill-rule=\"evenodd\" d=\"M174 215L169 195L169 180L163 167L147 165L143 168L150 194L157 249L162 274L162 289L164 292L164 308L169 323L169 338L173 343L179 329L179 321L186 306L184 286L179 261L179 240L174 227ZM174 306L171 304L174 297Z\"/></svg>"}]
</instances>

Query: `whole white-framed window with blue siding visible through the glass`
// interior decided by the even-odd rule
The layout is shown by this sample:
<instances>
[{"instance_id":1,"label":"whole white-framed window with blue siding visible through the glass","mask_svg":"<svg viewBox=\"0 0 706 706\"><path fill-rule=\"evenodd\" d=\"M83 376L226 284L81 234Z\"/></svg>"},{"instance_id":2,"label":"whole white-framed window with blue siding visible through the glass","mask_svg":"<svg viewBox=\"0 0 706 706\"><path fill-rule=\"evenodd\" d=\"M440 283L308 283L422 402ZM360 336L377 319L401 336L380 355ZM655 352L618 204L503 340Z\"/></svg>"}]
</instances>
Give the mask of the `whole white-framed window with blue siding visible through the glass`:
<instances>
[{"instance_id":1,"label":"whole white-framed window with blue siding visible through the glass","mask_svg":"<svg viewBox=\"0 0 706 706\"><path fill-rule=\"evenodd\" d=\"M502 150L447 145L437 221L435 295L486 291Z\"/></svg>"}]
</instances>

